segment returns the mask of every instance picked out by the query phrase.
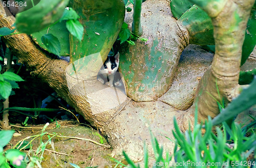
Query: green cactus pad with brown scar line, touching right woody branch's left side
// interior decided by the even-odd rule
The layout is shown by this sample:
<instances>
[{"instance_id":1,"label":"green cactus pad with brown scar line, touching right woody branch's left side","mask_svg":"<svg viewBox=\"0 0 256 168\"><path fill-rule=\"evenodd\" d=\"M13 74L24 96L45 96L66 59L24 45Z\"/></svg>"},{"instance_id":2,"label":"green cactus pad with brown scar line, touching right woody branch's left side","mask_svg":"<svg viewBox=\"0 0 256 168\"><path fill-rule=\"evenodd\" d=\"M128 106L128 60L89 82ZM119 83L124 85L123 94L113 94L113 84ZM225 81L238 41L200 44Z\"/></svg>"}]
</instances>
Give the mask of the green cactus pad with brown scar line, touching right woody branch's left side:
<instances>
[{"instance_id":1,"label":"green cactus pad with brown scar line, touching right woody branch's left side","mask_svg":"<svg viewBox=\"0 0 256 168\"><path fill-rule=\"evenodd\" d=\"M189 43L198 45L214 45L214 28L210 17L198 6L194 5L178 20L189 32Z\"/></svg>"}]
</instances>

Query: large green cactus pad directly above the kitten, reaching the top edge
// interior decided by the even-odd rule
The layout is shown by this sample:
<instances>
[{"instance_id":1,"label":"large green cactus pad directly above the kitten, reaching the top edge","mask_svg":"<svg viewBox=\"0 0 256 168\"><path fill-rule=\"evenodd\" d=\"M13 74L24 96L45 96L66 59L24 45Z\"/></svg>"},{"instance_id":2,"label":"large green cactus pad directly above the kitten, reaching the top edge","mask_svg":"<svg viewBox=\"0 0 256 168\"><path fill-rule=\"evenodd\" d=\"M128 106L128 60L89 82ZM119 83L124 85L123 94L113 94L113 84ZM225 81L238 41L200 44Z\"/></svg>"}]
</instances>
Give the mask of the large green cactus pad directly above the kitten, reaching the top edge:
<instances>
[{"instance_id":1,"label":"large green cactus pad directly above the kitten, reaching the top edge","mask_svg":"<svg viewBox=\"0 0 256 168\"><path fill-rule=\"evenodd\" d=\"M98 52L105 59L123 23L123 0L73 0L70 7L81 17L79 21L84 27L81 42L70 36L71 62Z\"/></svg>"}]
</instances>

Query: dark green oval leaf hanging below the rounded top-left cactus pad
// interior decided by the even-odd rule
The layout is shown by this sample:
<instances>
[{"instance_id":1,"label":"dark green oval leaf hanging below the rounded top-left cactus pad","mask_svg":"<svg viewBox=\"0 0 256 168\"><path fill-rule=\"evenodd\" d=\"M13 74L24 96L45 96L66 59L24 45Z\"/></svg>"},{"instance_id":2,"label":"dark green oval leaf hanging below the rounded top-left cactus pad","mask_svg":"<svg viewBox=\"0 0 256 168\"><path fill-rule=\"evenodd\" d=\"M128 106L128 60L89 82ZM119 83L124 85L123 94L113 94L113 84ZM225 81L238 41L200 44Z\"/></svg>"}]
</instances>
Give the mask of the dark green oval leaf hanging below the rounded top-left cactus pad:
<instances>
[{"instance_id":1,"label":"dark green oval leaf hanging below the rounded top-left cactus pad","mask_svg":"<svg viewBox=\"0 0 256 168\"><path fill-rule=\"evenodd\" d=\"M41 38L42 43L44 43L50 53L57 56L60 55L60 43L57 37L52 34L45 34Z\"/></svg>"}]
</instances>

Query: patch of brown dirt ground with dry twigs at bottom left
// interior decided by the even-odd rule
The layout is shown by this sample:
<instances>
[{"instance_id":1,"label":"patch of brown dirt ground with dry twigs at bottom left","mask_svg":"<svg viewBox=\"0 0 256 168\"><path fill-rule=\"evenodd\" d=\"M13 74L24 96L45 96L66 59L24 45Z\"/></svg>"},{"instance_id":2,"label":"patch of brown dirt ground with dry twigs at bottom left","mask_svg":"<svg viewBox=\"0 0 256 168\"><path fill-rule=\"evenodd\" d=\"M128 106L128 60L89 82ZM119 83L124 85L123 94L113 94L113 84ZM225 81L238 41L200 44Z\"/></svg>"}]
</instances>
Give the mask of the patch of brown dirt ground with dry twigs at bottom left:
<instances>
[{"instance_id":1,"label":"patch of brown dirt ground with dry twigs at bottom left","mask_svg":"<svg viewBox=\"0 0 256 168\"><path fill-rule=\"evenodd\" d=\"M111 148L108 146L106 140L93 128L86 125L75 125L72 121L58 121L60 127L56 127L56 123L50 124L46 131L49 134L56 133L57 136L69 136L68 138L53 137L51 142L46 146L44 152L44 159L42 159L42 167L73 167L69 163L75 163L80 167L115 167L116 162L111 160ZM15 146L18 141L23 140L29 136L41 134L44 125L32 126L28 125L21 127L20 125L12 125L12 129L16 130L14 137L10 144ZM50 135L52 137L52 135ZM97 145L89 140L98 142ZM31 138L26 141L32 140ZM30 156L34 153L39 145L40 137L32 141L32 150ZM47 142L48 137L43 136L42 142ZM103 144L102 144L103 143ZM10 148L7 146L6 149ZM24 152L28 153L28 150ZM115 158L115 157L114 157ZM121 157L115 158L121 161ZM118 166L120 167L120 166Z\"/></svg>"}]
</instances>

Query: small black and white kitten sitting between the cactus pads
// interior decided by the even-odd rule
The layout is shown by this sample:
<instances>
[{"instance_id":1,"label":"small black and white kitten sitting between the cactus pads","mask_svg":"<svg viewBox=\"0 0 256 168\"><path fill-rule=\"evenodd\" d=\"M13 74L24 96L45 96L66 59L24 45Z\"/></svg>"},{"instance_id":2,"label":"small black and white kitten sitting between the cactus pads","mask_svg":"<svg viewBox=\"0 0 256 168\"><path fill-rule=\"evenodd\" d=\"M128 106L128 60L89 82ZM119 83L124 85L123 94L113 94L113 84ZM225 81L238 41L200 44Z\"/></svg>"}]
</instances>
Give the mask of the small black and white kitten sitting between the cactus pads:
<instances>
[{"instance_id":1,"label":"small black and white kitten sitting between the cactus pads","mask_svg":"<svg viewBox=\"0 0 256 168\"><path fill-rule=\"evenodd\" d=\"M106 58L105 62L99 70L97 80L104 84L104 79L108 79L108 82L106 82L105 85L113 86L114 82L115 86L121 86L122 84L119 82L119 80L114 81L115 74L118 70L118 66L119 52L115 56L108 55L108 58Z\"/></svg>"}]
</instances>

